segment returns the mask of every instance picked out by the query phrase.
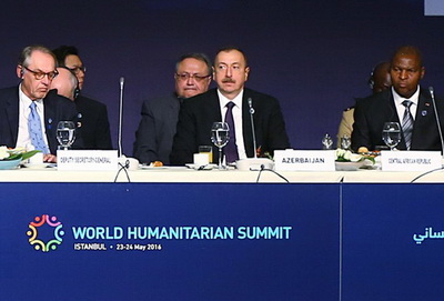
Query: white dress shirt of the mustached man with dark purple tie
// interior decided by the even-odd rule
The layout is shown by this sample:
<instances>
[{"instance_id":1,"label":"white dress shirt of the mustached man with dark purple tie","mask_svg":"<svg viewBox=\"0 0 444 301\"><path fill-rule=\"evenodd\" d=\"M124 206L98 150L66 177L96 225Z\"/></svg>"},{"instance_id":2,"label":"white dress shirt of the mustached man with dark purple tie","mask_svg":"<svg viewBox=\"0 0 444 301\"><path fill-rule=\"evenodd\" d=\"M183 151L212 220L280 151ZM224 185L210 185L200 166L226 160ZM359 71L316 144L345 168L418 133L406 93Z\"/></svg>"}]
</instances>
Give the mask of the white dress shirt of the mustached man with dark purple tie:
<instances>
[{"instance_id":1,"label":"white dress shirt of the mustached man with dark purple tie","mask_svg":"<svg viewBox=\"0 0 444 301\"><path fill-rule=\"evenodd\" d=\"M226 103L232 101L234 103L233 107L233 120L234 120L234 130L235 130L235 144L238 148L239 159L246 159L245 146L243 143L243 128L242 128L242 98L243 98L243 89L242 91L234 98L228 99L225 98L218 89L219 104L221 107L222 121L225 121L226 113Z\"/></svg>"}]
</instances>

